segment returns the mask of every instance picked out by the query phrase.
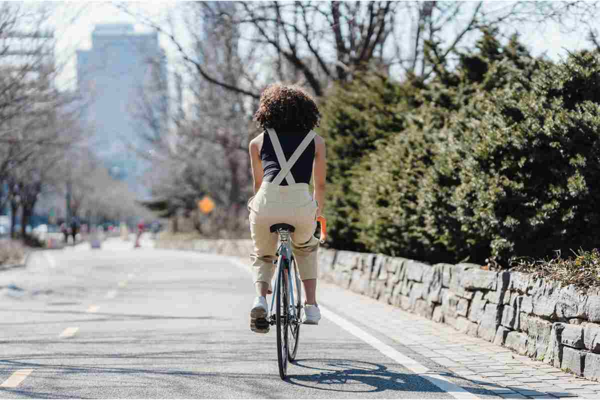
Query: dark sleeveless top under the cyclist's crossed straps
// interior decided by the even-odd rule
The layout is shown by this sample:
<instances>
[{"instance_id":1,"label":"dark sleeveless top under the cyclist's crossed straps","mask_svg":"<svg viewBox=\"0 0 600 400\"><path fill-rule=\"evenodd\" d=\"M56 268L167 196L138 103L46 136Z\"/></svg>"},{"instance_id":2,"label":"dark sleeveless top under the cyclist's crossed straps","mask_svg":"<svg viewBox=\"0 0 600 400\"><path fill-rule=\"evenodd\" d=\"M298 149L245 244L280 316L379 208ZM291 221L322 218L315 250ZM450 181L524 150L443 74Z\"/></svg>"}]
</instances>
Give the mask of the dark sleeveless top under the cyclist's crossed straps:
<instances>
[{"instance_id":1,"label":"dark sleeveless top under the cyclist's crossed straps","mask_svg":"<svg viewBox=\"0 0 600 400\"><path fill-rule=\"evenodd\" d=\"M277 131L275 131L277 132ZM293 152L298 148L300 142L307 136L307 133L286 133L283 135L277 134L279 142L281 143L281 149L283 154L286 156L286 160L292 157ZM281 166L277 161L277 155L275 155L275 149L271 138L267 131L263 132L263 146L260 149L260 160L263 164L263 181L272 182L275 176L281 171ZM292 175L296 184L308 184L310 178L313 175L313 161L314 161L314 140L310 141L310 144L306 150L302 153L296 164L292 167ZM284 179L281 182L282 186L287 186L287 180Z\"/></svg>"}]
</instances>

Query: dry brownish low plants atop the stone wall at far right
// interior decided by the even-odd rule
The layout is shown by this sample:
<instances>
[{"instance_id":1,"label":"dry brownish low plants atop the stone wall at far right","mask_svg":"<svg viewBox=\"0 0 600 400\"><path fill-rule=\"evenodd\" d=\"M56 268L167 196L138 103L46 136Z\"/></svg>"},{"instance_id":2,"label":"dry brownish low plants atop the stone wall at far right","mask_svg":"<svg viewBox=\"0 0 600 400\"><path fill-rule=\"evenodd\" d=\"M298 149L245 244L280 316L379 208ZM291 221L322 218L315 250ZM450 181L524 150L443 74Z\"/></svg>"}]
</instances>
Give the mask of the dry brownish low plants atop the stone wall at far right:
<instances>
[{"instance_id":1,"label":"dry brownish low plants atop the stone wall at far right","mask_svg":"<svg viewBox=\"0 0 600 400\"><path fill-rule=\"evenodd\" d=\"M512 269L531 273L536 278L559 281L563 285L574 284L580 288L600 287L600 251L579 250L571 257L561 254L549 260L515 258Z\"/></svg>"}]
</instances>

